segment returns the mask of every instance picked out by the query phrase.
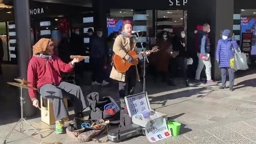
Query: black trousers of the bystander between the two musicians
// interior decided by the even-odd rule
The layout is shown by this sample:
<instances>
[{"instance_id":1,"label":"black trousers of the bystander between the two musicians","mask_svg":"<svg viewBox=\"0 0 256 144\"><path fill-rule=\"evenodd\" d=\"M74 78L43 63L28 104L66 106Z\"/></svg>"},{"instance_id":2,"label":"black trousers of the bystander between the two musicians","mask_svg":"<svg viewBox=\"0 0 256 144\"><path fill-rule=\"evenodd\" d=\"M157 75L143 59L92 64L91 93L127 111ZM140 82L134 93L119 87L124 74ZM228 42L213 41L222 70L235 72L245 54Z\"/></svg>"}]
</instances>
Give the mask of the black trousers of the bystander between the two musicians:
<instances>
[{"instance_id":1,"label":"black trousers of the bystander between the two musicians","mask_svg":"<svg viewBox=\"0 0 256 144\"><path fill-rule=\"evenodd\" d=\"M101 84L104 80L104 58L90 58L90 64L92 66L92 81Z\"/></svg>"}]
</instances>

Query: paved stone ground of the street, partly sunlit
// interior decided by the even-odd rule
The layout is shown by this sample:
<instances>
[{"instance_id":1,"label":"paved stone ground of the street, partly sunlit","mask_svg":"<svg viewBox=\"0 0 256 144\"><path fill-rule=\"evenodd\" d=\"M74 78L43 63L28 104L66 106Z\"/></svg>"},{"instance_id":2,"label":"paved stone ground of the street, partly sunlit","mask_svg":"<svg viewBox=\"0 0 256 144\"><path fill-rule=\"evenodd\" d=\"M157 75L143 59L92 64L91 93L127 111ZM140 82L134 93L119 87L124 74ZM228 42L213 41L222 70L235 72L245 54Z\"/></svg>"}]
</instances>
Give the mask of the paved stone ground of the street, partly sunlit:
<instances>
[{"instance_id":1,"label":"paved stone ground of the street, partly sunlit","mask_svg":"<svg viewBox=\"0 0 256 144\"><path fill-rule=\"evenodd\" d=\"M255 70L243 72L245 76L236 78L234 92L228 89L219 90L218 86L200 85L186 88L180 79L176 79L178 86L169 87L160 82L151 83L151 78L148 78L146 86L151 107L158 112L168 114L169 119L182 123L180 136L171 137L156 144L256 144L256 74L254 72ZM8 86L5 88L14 92ZM85 95L98 91L100 96L113 96L114 99L118 99L116 84L105 88L83 86L82 89ZM142 85L138 84L136 91L140 92L141 89ZM8 94L10 90L5 93ZM14 94L18 93L14 92ZM10 105L11 103L8 97L5 99L2 97L0 143L18 120L17 112L14 111L16 108ZM70 113L72 114L72 110ZM63 144L79 144L72 142L66 134L55 134L54 126L44 124L38 116L28 121L40 129L45 138L40 139L38 135L32 135L34 131L29 130L26 134L20 134L15 130L8 139L10 144L40 144L56 141ZM150 143L145 136L139 136L120 144L136 142ZM88 144L94 143L88 142ZM112 142L106 144L112 144Z\"/></svg>"}]
</instances>

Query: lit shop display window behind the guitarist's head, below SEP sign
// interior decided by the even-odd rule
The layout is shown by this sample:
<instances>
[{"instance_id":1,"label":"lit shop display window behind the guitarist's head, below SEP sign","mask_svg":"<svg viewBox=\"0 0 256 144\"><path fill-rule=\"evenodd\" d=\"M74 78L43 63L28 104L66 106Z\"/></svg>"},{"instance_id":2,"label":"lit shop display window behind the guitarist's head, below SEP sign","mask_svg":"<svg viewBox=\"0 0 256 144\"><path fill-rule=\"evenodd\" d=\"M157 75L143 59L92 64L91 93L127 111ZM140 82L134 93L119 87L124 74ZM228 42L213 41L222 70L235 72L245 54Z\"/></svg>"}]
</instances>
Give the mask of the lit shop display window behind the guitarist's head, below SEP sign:
<instances>
[{"instance_id":1,"label":"lit shop display window behind the guitarist's head, below SEP sign","mask_svg":"<svg viewBox=\"0 0 256 144\"><path fill-rule=\"evenodd\" d=\"M168 32L186 32L187 14L184 10L133 10L110 9L107 16L108 36L111 33L121 34L122 25L129 21L133 23L133 30L139 34L144 48L156 44L156 36L162 30ZM142 48L140 43L138 48Z\"/></svg>"}]
</instances>

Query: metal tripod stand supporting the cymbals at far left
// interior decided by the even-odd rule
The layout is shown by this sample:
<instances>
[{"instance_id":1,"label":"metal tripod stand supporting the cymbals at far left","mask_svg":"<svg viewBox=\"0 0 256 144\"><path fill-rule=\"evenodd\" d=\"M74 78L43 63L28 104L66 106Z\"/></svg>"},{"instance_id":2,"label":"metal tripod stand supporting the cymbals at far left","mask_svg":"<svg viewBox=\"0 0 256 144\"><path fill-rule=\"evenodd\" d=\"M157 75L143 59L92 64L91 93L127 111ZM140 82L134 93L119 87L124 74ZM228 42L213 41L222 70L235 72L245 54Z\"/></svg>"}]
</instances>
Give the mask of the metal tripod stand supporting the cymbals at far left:
<instances>
[{"instance_id":1,"label":"metal tripod stand supporting the cymbals at far left","mask_svg":"<svg viewBox=\"0 0 256 144\"><path fill-rule=\"evenodd\" d=\"M25 103L24 98L22 96L22 87L20 87L20 109L21 109L21 118L20 120L14 125L14 127L12 128L12 130L7 134L7 136L4 138L4 144L6 144L6 140L9 138L9 136L12 134L12 131L16 128L16 126L20 123L20 132L24 133L23 130L23 122L25 122L26 124L28 124L30 126L30 128L33 128L37 134L40 135L41 138L43 138L42 134L36 130L36 128L34 126L32 126L32 124L30 124L29 122L27 122L25 120L25 118L23 117L23 104ZM26 131L28 131L30 128L28 128ZM25 131L25 132L26 132Z\"/></svg>"}]
</instances>

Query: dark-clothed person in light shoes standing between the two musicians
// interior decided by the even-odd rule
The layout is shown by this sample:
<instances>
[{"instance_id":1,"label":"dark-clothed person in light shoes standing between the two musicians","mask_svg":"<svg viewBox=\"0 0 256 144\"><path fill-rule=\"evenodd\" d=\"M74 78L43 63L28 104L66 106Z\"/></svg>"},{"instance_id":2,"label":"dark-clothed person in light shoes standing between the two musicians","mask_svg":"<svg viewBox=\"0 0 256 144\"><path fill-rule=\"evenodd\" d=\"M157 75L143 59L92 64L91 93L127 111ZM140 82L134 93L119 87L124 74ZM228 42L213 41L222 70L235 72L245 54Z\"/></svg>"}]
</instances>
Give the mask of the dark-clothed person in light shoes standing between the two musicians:
<instances>
[{"instance_id":1,"label":"dark-clothed person in light shoes standing between the two musicians","mask_svg":"<svg viewBox=\"0 0 256 144\"><path fill-rule=\"evenodd\" d=\"M96 30L96 35L90 38L90 65L92 68L92 85L106 86L109 84L104 80L107 48L102 34L102 29L98 29Z\"/></svg>"}]
</instances>

